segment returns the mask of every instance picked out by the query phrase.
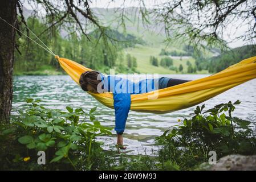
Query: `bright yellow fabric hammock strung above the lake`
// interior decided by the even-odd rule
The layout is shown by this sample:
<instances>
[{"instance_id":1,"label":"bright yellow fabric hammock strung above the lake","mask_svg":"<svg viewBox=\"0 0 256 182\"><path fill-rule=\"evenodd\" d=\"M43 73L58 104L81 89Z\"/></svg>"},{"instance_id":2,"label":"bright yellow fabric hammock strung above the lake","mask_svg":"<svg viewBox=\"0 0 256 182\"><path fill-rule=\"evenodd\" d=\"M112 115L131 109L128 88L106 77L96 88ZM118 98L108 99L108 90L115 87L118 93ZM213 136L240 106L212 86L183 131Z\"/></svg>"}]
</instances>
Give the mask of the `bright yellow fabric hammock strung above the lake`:
<instances>
[{"instance_id":1,"label":"bright yellow fabric hammock strung above the lake","mask_svg":"<svg viewBox=\"0 0 256 182\"><path fill-rule=\"evenodd\" d=\"M92 71L75 61L56 56L61 67L79 84L79 77L85 71ZM185 109L243 82L256 78L256 56L231 65L214 75L185 82L184 84L155 90L143 94L131 94L131 110L147 113L169 113ZM112 93L91 93L97 101L113 109ZM157 98L155 97L157 96Z\"/></svg>"}]
</instances>

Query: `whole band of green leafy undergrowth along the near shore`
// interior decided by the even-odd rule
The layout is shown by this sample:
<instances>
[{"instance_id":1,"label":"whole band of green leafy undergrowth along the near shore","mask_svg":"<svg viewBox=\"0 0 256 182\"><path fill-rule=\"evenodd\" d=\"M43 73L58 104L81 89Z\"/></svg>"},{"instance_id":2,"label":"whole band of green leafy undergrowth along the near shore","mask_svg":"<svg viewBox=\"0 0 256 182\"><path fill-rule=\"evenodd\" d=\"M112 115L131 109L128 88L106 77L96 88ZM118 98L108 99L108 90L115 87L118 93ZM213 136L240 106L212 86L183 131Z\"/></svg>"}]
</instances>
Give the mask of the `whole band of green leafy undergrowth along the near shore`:
<instances>
[{"instance_id":1,"label":"whole band of green leafy undergrowth along the near shore","mask_svg":"<svg viewBox=\"0 0 256 182\"><path fill-rule=\"evenodd\" d=\"M0 169L188 170L208 162L209 151L216 151L218 158L256 153L255 126L232 116L239 101L206 111L204 105L197 106L192 118L156 137L160 149L151 156L104 151L96 137L111 134L111 129L97 121L96 107L87 113L39 103L28 99L9 125L0 125ZM46 153L46 165L38 165L38 151Z\"/></svg>"}]
</instances>

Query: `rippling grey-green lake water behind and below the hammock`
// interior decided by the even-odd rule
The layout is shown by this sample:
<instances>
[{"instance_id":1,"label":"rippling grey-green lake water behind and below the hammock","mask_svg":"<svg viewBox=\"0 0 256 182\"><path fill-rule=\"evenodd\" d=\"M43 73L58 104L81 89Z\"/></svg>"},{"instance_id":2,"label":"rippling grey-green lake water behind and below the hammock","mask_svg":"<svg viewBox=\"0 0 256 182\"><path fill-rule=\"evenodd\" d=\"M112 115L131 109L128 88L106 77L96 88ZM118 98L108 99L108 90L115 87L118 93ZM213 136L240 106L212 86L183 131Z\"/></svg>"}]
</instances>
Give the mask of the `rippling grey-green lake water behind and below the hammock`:
<instances>
[{"instance_id":1,"label":"rippling grey-green lake water behind and below the hammock","mask_svg":"<svg viewBox=\"0 0 256 182\"><path fill-rule=\"evenodd\" d=\"M181 78L186 80L195 80L208 75L164 75L166 77ZM256 79L248 81L233 89L227 90L206 102L206 109L217 104L228 101L240 100L242 103L237 106L234 115L250 121L256 121ZM41 104L52 108L66 110L66 106L82 107L84 110L90 110L97 106L95 111L96 118L101 125L115 127L114 110L105 107L97 102L69 76L17 76L14 77L14 98L13 108L25 105L26 98L42 100ZM202 104L200 104L202 105ZM168 114L151 114L129 112L126 129L124 132L124 144L127 145L129 154L151 154L155 137L161 135L168 127L177 125L178 119L189 117L196 108L190 107L180 111ZM97 140L103 141L104 148L109 150L115 147L116 135L109 137L99 137Z\"/></svg>"}]
</instances>

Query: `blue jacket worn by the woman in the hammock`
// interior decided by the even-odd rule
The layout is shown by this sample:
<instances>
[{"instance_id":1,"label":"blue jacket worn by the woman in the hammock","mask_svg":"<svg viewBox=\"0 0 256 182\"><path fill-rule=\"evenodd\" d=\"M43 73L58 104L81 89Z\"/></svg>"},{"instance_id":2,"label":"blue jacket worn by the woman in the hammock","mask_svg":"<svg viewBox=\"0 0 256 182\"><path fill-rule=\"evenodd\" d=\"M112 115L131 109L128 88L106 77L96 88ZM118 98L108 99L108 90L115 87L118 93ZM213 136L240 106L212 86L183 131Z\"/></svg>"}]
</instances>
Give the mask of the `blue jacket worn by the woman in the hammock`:
<instances>
[{"instance_id":1,"label":"blue jacket worn by the woman in the hammock","mask_svg":"<svg viewBox=\"0 0 256 182\"><path fill-rule=\"evenodd\" d=\"M123 134L125 123L131 107L131 94L147 93L156 89L166 88L169 81L167 77L145 79L132 82L117 76L104 76L101 74L104 92L112 92L115 109L115 131Z\"/></svg>"}]
</instances>

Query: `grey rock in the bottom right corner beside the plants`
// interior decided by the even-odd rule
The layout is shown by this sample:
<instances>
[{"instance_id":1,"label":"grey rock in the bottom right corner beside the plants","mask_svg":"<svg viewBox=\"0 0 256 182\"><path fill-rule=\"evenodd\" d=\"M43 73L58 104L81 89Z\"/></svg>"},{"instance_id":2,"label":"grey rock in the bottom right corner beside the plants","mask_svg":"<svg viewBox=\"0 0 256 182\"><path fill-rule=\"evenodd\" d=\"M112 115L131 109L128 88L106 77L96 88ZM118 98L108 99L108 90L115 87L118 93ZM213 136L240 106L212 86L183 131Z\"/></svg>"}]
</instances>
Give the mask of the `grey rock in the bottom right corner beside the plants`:
<instances>
[{"instance_id":1,"label":"grey rock in the bottom right corner beside the plants","mask_svg":"<svg viewBox=\"0 0 256 182\"><path fill-rule=\"evenodd\" d=\"M211 165L211 171L254 171L256 170L256 155L227 155Z\"/></svg>"}]
</instances>

